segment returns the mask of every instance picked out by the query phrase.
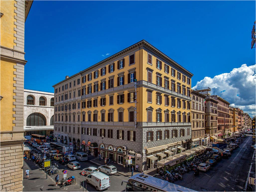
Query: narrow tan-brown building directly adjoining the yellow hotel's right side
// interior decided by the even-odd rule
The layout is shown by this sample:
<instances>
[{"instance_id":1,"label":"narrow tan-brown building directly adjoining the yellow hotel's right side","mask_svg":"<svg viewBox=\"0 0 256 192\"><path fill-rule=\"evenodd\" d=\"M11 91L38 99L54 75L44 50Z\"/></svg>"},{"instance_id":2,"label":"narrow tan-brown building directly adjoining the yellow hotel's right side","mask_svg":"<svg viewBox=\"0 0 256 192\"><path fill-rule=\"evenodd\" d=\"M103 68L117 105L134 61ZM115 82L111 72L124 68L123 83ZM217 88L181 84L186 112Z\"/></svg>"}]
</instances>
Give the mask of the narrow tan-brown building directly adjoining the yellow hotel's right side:
<instances>
[{"instance_id":1,"label":"narrow tan-brown building directly adjoining the yellow hotel's right side","mask_svg":"<svg viewBox=\"0 0 256 192\"><path fill-rule=\"evenodd\" d=\"M191 90L191 148L203 145L205 137L205 95Z\"/></svg>"}]
</instances>

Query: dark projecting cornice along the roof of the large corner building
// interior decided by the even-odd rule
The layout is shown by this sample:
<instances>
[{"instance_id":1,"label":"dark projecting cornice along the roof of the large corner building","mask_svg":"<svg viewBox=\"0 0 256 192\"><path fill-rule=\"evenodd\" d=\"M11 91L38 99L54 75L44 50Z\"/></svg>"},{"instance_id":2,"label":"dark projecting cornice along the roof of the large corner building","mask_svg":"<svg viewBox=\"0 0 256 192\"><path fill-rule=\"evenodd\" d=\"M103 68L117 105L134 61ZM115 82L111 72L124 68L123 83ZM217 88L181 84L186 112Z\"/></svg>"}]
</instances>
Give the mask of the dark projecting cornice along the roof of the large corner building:
<instances>
[{"instance_id":1,"label":"dark projecting cornice along the roof of the large corner building","mask_svg":"<svg viewBox=\"0 0 256 192\"><path fill-rule=\"evenodd\" d=\"M178 67L180 70L182 70L182 71L186 72L187 74L189 74L191 77L194 75L193 73L191 73L191 72L189 72L188 70L186 70L184 67L182 67L181 65L179 65L177 62L175 62L174 60L172 60L171 58L169 58L169 57L168 57L167 55L165 55L163 52L159 51L158 49L156 49L154 46L152 46L150 43L148 43L147 41L145 41L145 40L143 39L143 40L141 40L141 41L139 41L139 42L133 44L132 46L127 47L127 48L123 49L122 51L119 51L119 52L117 52L117 53L111 55L110 57L108 57L108 58L106 58L106 59L104 59L104 60L102 60L102 61L100 61L100 62L98 62L98 63L96 63L96 64L94 64L94 65L92 65L92 66L90 66L90 67L88 67L87 69L84 69L84 70L80 71L79 73L76 73L76 74L70 76L69 78L72 78L72 77L74 77L74 76L76 76L76 75L78 75L78 74L82 75L83 73L85 73L85 72L87 72L87 71L89 71L89 70L92 70L93 68L95 68L95 67L97 67L97 66L99 66L99 65L101 65L101 64L103 64L103 63L106 63L106 62L108 62L108 61L110 61L110 60L112 60L112 59L114 59L114 58L116 58L116 57L122 55L123 53L125 53L125 52L127 52L127 51L130 51L130 50L132 50L132 49L135 49L135 48L137 48L137 47L142 47L142 46L145 46L145 47L150 48L152 51L154 51L155 53L157 53L157 54L159 54L160 56L162 56L164 59L166 59L167 61L169 61L170 63L172 63L172 64L175 65L176 67ZM65 80L62 80L61 82L59 82L59 83L53 85L52 87L55 87L56 85L65 82L65 81L68 80L69 78L67 78L67 79L65 79Z\"/></svg>"}]
</instances>

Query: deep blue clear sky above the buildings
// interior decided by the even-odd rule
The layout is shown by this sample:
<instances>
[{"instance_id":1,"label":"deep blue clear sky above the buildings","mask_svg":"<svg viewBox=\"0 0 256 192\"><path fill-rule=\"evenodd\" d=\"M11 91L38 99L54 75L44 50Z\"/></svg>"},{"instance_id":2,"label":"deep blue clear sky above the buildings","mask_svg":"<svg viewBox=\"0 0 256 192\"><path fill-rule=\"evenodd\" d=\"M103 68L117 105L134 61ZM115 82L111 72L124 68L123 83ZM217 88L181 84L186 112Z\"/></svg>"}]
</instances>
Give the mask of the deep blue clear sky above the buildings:
<instances>
[{"instance_id":1,"label":"deep blue clear sky above the buildings","mask_svg":"<svg viewBox=\"0 0 256 192\"><path fill-rule=\"evenodd\" d=\"M195 86L255 65L254 21L255 1L34 1L25 24L25 88L53 92L66 75L142 39L193 73Z\"/></svg>"}]
</instances>

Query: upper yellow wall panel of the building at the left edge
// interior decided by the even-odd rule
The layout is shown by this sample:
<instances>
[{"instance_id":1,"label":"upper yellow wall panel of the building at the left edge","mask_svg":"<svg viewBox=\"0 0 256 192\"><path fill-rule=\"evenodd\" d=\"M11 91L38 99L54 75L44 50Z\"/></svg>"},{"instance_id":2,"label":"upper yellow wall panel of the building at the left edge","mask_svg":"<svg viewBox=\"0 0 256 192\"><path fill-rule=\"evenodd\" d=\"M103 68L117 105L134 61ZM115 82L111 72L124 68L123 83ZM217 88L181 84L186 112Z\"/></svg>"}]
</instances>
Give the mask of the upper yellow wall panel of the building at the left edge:
<instances>
[{"instance_id":1,"label":"upper yellow wall panel of the building at the left edge","mask_svg":"<svg viewBox=\"0 0 256 192\"><path fill-rule=\"evenodd\" d=\"M14 28L16 25L14 25L14 21L16 22L16 19L14 19L14 3L15 1L0 1L1 3L1 13L4 15L1 17L1 46L8 47L13 49L13 46L16 46L16 43L14 43L14 33L16 34L16 31L14 31Z\"/></svg>"}]
</instances>

